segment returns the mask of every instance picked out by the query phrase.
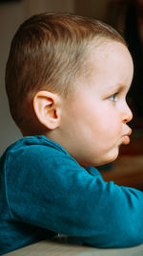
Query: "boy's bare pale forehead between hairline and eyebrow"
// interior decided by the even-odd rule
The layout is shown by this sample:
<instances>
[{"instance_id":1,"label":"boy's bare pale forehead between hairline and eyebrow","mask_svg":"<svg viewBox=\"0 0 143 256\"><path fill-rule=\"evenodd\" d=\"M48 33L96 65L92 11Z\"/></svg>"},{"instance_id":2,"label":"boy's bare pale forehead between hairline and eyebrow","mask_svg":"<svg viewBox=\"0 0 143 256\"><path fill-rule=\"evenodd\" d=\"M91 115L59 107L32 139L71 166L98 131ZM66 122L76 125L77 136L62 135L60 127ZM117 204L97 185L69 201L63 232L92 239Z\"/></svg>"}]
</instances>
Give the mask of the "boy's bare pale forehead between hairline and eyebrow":
<instances>
[{"instance_id":1,"label":"boy's bare pale forehead between hairline and eyebrow","mask_svg":"<svg viewBox=\"0 0 143 256\"><path fill-rule=\"evenodd\" d=\"M127 80L127 83L133 79L133 59L128 48L112 40L92 47L89 69L91 78L100 76L100 79L104 79L111 76L112 79Z\"/></svg>"}]
</instances>

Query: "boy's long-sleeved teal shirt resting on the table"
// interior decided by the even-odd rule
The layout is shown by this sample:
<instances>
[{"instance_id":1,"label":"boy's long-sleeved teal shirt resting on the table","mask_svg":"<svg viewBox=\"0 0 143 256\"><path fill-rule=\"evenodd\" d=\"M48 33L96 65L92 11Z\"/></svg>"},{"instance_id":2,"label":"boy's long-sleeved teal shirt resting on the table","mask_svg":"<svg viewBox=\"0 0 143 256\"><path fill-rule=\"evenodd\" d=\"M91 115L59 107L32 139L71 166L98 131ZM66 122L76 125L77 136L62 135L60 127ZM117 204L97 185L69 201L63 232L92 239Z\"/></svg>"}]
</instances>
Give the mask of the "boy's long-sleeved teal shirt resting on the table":
<instances>
[{"instance_id":1,"label":"boy's long-sleeved teal shirt resting on the table","mask_svg":"<svg viewBox=\"0 0 143 256\"><path fill-rule=\"evenodd\" d=\"M60 233L95 247L143 243L143 193L105 182L45 136L0 158L0 254Z\"/></svg>"}]
</instances>

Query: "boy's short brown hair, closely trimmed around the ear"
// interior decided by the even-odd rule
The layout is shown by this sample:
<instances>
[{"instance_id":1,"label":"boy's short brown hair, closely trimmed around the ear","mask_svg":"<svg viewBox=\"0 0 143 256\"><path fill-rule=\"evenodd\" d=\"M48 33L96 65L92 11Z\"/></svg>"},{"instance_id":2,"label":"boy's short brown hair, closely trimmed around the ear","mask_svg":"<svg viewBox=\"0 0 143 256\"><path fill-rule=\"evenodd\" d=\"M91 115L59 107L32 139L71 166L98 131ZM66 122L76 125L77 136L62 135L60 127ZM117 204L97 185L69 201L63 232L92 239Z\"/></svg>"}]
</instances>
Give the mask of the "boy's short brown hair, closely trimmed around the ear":
<instances>
[{"instance_id":1,"label":"boy's short brown hair, closely trimmed around the ear","mask_svg":"<svg viewBox=\"0 0 143 256\"><path fill-rule=\"evenodd\" d=\"M31 123L27 110L38 90L68 94L82 74L86 50L95 37L126 45L109 25L70 13L36 14L19 27L6 67L10 113L19 128Z\"/></svg>"}]
</instances>

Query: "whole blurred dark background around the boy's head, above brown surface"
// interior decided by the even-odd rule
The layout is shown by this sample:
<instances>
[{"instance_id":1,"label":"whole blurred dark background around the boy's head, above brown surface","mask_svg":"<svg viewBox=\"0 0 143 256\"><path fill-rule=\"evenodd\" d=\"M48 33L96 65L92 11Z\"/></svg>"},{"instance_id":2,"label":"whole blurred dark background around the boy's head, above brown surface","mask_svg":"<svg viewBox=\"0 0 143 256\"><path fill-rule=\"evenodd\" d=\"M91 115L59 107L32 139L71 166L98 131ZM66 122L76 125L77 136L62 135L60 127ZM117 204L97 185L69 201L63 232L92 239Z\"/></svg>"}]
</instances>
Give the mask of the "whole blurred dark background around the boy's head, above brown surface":
<instances>
[{"instance_id":1,"label":"whole blurred dark background around the boy's head, above brown surface","mask_svg":"<svg viewBox=\"0 0 143 256\"><path fill-rule=\"evenodd\" d=\"M122 154L143 155L143 0L0 0L0 154L22 135L10 117L5 66L19 25L38 12L74 12L105 21L126 38L134 61L128 102L133 110L133 143ZM142 163L143 164L143 163ZM142 165L143 169L143 165Z\"/></svg>"}]
</instances>

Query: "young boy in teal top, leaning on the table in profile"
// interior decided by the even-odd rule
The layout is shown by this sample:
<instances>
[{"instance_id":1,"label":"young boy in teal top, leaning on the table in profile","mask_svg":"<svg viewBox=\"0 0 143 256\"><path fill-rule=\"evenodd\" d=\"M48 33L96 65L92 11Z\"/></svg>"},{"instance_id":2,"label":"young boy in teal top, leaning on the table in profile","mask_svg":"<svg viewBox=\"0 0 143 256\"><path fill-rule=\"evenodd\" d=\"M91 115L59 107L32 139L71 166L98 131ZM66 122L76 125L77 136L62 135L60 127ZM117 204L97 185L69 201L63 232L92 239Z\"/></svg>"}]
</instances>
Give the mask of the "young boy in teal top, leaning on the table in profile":
<instances>
[{"instance_id":1,"label":"young boy in teal top, leaning on the table in profile","mask_svg":"<svg viewBox=\"0 0 143 256\"><path fill-rule=\"evenodd\" d=\"M110 26L74 14L23 23L6 69L10 113L23 138L0 161L0 253L51 238L97 247L143 243L143 193L92 166L128 144L133 60Z\"/></svg>"}]
</instances>

